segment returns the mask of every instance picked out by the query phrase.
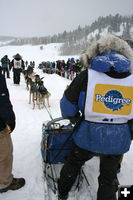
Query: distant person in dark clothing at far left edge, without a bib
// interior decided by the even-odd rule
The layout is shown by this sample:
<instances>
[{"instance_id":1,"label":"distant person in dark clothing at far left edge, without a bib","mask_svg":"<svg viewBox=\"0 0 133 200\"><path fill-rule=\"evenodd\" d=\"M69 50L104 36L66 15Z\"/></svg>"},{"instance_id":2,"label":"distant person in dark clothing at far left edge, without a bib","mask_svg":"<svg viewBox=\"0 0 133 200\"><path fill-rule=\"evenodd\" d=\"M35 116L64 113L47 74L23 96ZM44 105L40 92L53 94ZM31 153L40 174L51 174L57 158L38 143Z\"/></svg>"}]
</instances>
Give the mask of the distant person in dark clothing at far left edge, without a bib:
<instances>
[{"instance_id":1,"label":"distant person in dark clothing at far left edge, without a bib","mask_svg":"<svg viewBox=\"0 0 133 200\"><path fill-rule=\"evenodd\" d=\"M7 75L7 78L10 78L9 76L9 69L10 69L10 60L8 58L7 55L5 55L2 59L1 59L1 64L2 64L2 73L5 76L5 74Z\"/></svg>"}]
</instances>

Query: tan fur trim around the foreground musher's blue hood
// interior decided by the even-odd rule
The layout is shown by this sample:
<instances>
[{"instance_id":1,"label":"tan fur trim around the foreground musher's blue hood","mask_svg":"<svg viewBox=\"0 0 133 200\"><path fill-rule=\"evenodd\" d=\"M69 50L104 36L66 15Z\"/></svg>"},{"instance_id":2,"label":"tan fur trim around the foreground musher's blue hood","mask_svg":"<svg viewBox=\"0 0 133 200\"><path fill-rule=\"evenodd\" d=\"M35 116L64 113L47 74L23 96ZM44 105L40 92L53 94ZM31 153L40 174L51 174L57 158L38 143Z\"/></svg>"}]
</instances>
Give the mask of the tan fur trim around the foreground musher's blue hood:
<instances>
[{"instance_id":1,"label":"tan fur trim around the foreground musher's blue hood","mask_svg":"<svg viewBox=\"0 0 133 200\"><path fill-rule=\"evenodd\" d=\"M92 42L81 55L81 61L85 68L91 68L92 60L98 55L111 50L120 53L130 60L130 68L133 73L133 50L128 43L117 36L108 33L98 41Z\"/></svg>"}]
</instances>

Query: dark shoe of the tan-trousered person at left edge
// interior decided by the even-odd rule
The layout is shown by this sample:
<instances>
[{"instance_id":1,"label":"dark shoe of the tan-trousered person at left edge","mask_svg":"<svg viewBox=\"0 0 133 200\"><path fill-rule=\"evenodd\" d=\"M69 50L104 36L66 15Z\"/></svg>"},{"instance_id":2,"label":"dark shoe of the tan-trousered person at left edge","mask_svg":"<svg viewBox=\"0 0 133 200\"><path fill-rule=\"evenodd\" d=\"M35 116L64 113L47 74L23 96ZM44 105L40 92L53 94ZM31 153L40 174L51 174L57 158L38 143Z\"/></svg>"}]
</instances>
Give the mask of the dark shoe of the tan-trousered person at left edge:
<instances>
[{"instance_id":1,"label":"dark shoe of the tan-trousered person at left edge","mask_svg":"<svg viewBox=\"0 0 133 200\"><path fill-rule=\"evenodd\" d=\"M24 178L13 178L12 183L6 188L0 189L0 193L7 192L8 190L18 190L25 185Z\"/></svg>"}]
</instances>

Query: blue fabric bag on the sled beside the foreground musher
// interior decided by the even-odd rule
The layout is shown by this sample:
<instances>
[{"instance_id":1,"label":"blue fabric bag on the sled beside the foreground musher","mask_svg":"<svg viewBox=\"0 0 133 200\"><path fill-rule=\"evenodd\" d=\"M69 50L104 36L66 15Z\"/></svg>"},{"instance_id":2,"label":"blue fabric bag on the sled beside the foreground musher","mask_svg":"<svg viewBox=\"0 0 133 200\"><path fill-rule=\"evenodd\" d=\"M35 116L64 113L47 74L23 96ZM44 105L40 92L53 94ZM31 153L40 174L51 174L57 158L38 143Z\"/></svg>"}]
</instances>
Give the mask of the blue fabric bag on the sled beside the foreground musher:
<instances>
[{"instance_id":1,"label":"blue fabric bag on the sled beside the foreground musher","mask_svg":"<svg viewBox=\"0 0 133 200\"><path fill-rule=\"evenodd\" d=\"M45 163L65 163L74 145L71 136L73 126L68 121L63 118L56 118L48 123L43 123L41 154Z\"/></svg>"}]
</instances>

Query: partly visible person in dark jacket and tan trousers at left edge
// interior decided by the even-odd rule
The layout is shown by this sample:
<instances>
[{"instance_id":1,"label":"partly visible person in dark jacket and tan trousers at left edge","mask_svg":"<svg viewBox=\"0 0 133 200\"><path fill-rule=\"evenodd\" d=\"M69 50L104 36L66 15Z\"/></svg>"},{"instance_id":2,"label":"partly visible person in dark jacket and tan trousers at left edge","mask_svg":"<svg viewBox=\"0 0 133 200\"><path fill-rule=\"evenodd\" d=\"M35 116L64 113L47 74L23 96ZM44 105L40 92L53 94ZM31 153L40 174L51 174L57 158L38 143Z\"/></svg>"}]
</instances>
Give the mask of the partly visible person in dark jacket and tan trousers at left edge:
<instances>
[{"instance_id":1,"label":"partly visible person in dark jacket and tan trousers at left edge","mask_svg":"<svg viewBox=\"0 0 133 200\"><path fill-rule=\"evenodd\" d=\"M9 99L4 76L0 73L0 193L24 186L23 178L12 174L13 145L11 132L15 128L15 113Z\"/></svg>"}]
</instances>

